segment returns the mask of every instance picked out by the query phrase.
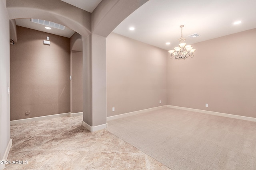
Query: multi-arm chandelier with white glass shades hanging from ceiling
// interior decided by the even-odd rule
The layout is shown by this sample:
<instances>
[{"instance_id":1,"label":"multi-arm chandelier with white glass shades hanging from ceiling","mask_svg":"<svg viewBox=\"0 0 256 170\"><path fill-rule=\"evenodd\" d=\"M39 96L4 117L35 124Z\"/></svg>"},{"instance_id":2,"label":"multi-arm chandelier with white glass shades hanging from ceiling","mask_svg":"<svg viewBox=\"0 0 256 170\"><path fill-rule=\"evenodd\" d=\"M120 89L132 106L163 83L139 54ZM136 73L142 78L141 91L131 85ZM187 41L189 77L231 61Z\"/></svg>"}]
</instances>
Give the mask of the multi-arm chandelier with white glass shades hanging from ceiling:
<instances>
[{"instance_id":1,"label":"multi-arm chandelier with white glass shades hanging from ceiling","mask_svg":"<svg viewBox=\"0 0 256 170\"><path fill-rule=\"evenodd\" d=\"M184 25L180 25L181 27L181 37L180 39L178 39L178 41L180 42L178 47L175 47L174 50L169 50L170 58L172 59L172 57L176 59L186 59L188 58L188 56L190 56L191 58L194 57L193 53L196 49L193 49L193 47L191 47L191 45L186 45L186 43L183 43L183 41L185 41L185 38L183 38L182 36L182 28L184 27Z\"/></svg>"}]
</instances>

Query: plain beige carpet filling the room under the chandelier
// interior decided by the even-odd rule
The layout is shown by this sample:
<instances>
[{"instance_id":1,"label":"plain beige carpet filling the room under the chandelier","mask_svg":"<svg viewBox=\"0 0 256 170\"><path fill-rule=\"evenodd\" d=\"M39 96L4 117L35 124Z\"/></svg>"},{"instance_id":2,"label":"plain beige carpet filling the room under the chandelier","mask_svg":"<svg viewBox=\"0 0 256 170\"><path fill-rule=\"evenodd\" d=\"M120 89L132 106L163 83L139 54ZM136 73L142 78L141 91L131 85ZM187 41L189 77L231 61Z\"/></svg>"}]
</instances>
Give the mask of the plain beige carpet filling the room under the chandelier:
<instances>
[{"instance_id":1,"label":"plain beige carpet filling the room under the chandelier","mask_svg":"<svg viewBox=\"0 0 256 170\"><path fill-rule=\"evenodd\" d=\"M107 130L172 170L256 170L256 122L164 108Z\"/></svg>"}]
</instances>

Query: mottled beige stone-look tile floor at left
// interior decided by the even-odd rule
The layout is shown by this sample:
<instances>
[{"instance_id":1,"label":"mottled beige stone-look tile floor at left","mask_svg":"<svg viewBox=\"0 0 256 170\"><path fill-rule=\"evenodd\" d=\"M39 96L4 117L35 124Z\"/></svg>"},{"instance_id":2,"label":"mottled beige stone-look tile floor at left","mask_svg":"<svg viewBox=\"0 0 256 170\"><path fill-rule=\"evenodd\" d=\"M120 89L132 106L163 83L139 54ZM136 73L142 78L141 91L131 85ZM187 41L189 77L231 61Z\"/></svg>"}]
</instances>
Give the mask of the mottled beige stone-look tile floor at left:
<instances>
[{"instance_id":1,"label":"mottled beige stone-look tile floor at left","mask_svg":"<svg viewBox=\"0 0 256 170\"><path fill-rule=\"evenodd\" d=\"M11 138L5 170L169 169L105 129L88 131L82 116L12 125Z\"/></svg>"}]
</instances>

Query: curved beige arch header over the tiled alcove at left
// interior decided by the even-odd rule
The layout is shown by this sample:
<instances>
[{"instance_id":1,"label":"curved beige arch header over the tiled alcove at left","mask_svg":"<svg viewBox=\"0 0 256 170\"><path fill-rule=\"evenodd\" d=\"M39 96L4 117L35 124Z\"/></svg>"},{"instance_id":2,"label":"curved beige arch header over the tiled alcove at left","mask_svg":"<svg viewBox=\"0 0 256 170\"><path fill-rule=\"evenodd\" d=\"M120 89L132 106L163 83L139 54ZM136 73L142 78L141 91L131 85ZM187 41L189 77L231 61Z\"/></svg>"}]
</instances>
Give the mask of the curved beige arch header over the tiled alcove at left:
<instances>
[{"instance_id":1,"label":"curved beige arch header over the tiled alcove at left","mask_svg":"<svg viewBox=\"0 0 256 170\"><path fill-rule=\"evenodd\" d=\"M69 27L83 37L91 34L91 13L62 1L8 0L9 19L37 18Z\"/></svg>"}]
</instances>

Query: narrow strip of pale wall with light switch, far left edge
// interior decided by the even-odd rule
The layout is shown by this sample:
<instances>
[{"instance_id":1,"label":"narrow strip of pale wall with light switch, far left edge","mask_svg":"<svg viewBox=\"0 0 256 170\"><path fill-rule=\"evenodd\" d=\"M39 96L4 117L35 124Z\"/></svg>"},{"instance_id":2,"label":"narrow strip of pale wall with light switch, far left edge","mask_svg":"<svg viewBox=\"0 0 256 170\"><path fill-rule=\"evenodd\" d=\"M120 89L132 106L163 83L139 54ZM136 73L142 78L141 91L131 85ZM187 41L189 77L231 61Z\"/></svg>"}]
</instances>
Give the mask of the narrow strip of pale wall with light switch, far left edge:
<instances>
[{"instance_id":1,"label":"narrow strip of pale wall with light switch, far left edge","mask_svg":"<svg viewBox=\"0 0 256 170\"><path fill-rule=\"evenodd\" d=\"M6 0L0 0L0 160L10 141L10 43ZM0 169L4 167L0 164Z\"/></svg>"}]
</instances>

